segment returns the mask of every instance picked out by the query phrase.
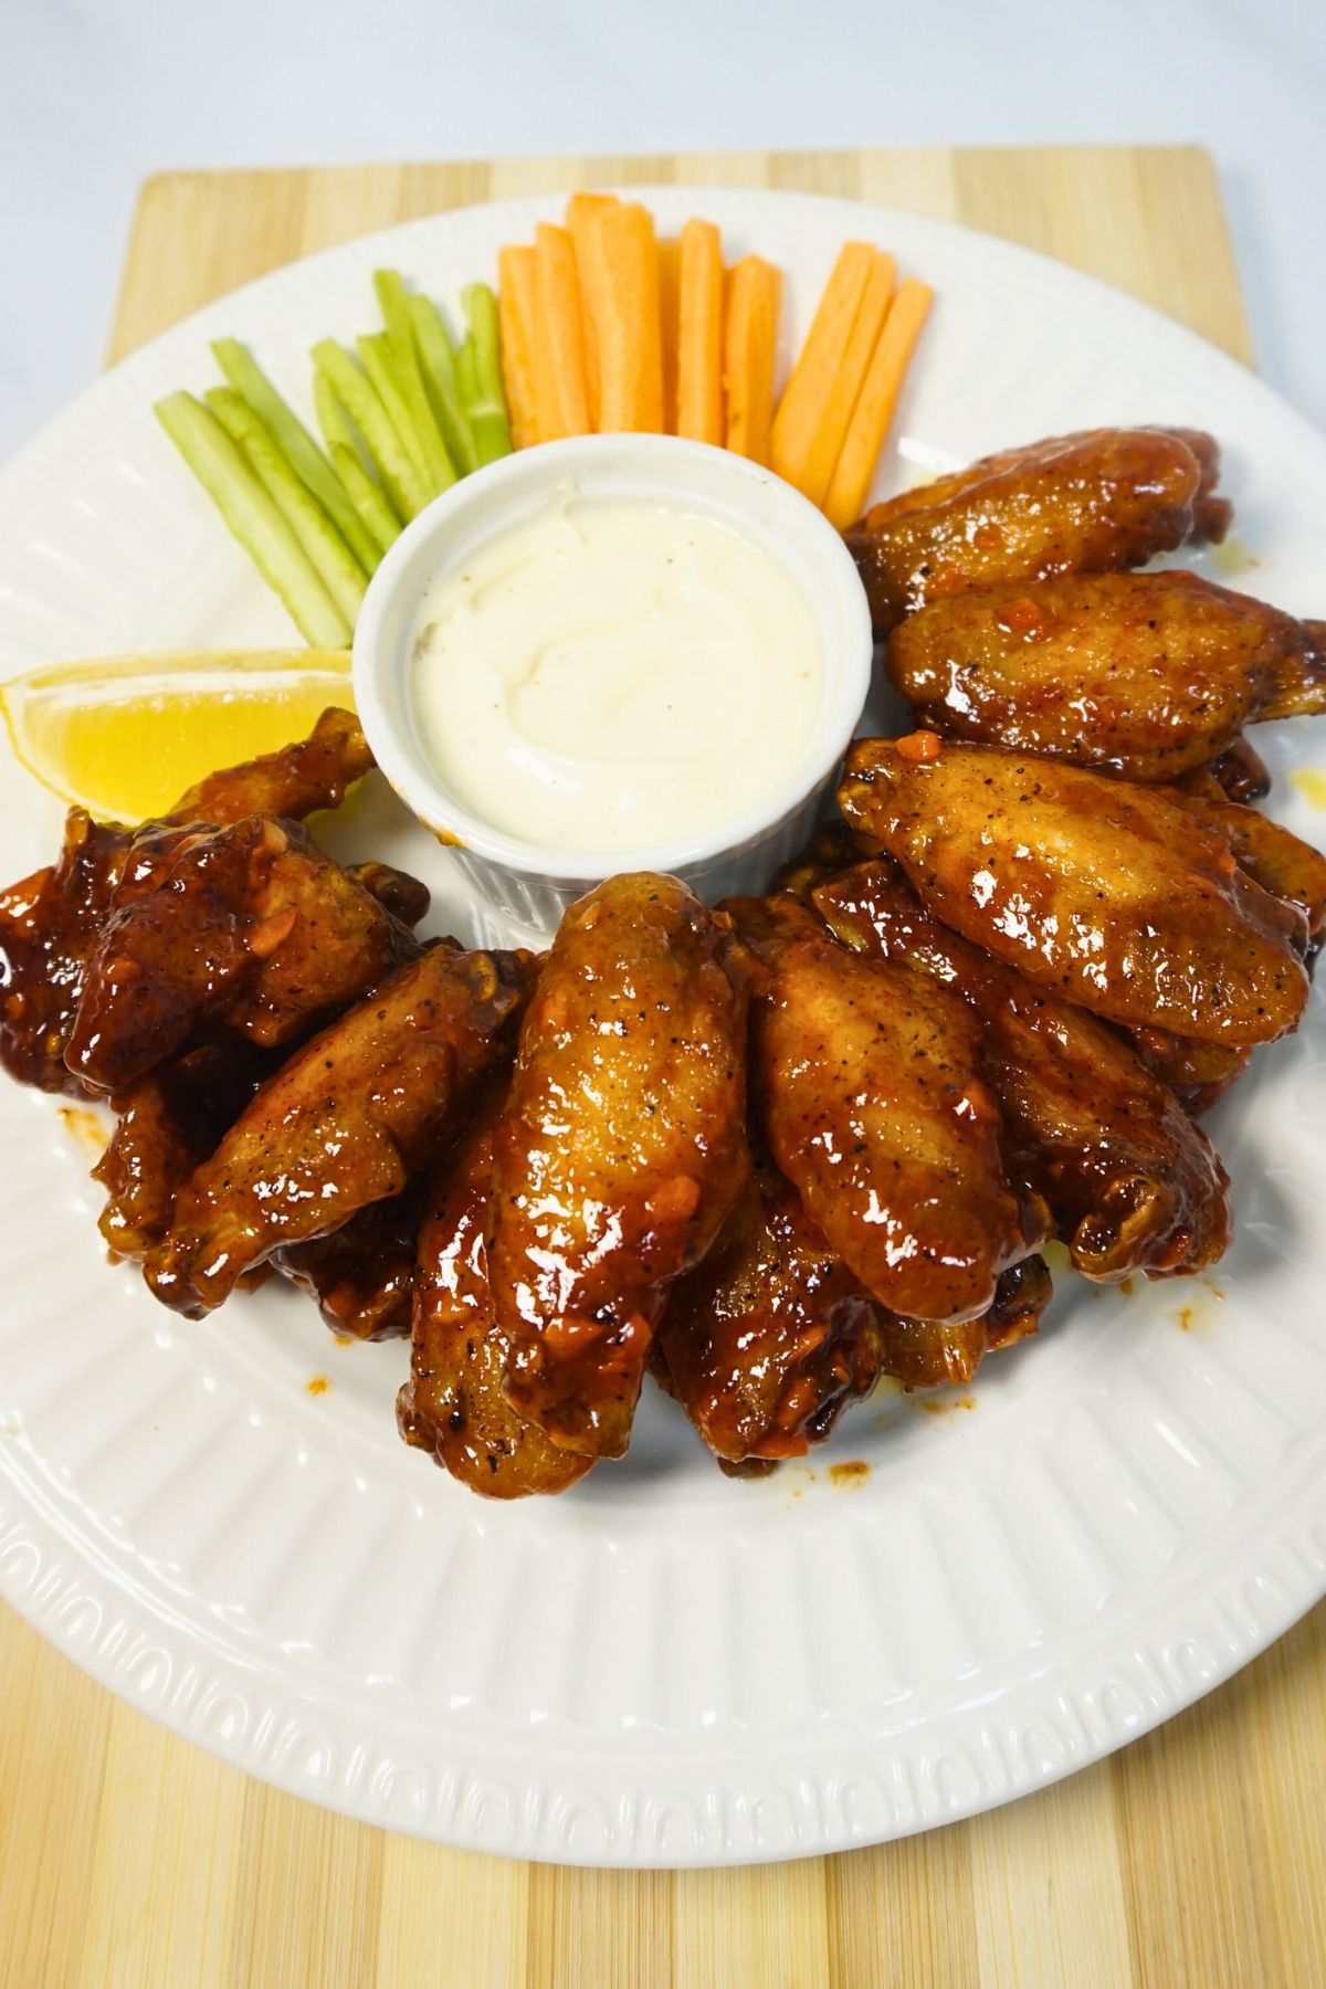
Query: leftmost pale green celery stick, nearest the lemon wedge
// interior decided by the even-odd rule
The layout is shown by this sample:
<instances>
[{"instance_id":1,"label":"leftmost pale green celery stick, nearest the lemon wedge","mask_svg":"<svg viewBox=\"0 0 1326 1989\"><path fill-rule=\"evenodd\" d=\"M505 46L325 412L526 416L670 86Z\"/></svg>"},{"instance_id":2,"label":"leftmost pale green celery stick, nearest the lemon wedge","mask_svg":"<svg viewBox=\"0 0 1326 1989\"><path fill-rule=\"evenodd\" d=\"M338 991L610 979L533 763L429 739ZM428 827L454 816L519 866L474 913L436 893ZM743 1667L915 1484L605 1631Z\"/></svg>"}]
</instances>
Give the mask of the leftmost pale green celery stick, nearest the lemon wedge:
<instances>
[{"instance_id":1,"label":"leftmost pale green celery stick, nearest the lemon wedge","mask_svg":"<svg viewBox=\"0 0 1326 1989\"><path fill-rule=\"evenodd\" d=\"M193 394L167 394L155 404L155 416L266 585L284 601L304 640L314 648L346 648L344 615L217 416Z\"/></svg>"}]
</instances>

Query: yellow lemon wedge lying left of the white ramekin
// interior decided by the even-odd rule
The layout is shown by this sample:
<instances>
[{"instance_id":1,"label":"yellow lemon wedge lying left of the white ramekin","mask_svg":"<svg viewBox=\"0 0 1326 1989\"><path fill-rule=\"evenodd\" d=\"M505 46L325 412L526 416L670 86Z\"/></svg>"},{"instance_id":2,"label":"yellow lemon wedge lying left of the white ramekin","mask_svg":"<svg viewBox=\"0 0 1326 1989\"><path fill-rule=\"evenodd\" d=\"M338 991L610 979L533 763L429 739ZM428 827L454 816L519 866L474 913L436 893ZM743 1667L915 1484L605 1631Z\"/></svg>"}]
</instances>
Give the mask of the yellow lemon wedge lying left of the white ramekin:
<instances>
[{"instance_id":1,"label":"yellow lemon wedge lying left of the white ramekin","mask_svg":"<svg viewBox=\"0 0 1326 1989\"><path fill-rule=\"evenodd\" d=\"M109 821L147 821L205 774L352 708L346 650L270 648L58 662L0 684L22 766Z\"/></svg>"}]
</instances>

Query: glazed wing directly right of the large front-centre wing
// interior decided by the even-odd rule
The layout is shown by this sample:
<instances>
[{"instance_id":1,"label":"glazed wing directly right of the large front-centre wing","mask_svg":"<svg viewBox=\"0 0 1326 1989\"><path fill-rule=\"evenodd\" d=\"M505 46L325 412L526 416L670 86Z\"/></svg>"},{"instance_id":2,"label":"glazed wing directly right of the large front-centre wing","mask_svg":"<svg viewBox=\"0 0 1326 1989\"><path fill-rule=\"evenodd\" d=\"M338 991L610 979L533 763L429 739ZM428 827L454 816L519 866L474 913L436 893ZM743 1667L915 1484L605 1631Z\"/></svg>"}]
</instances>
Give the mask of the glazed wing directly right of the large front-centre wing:
<instances>
[{"instance_id":1,"label":"glazed wing directly right of the large front-centre wing","mask_svg":"<svg viewBox=\"0 0 1326 1989\"><path fill-rule=\"evenodd\" d=\"M976 1319L1044 1237L1010 1187L966 1006L839 947L791 897L736 901L763 981L751 1092L773 1160L867 1291L914 1319Z\"/></svg>"}]
</instances>

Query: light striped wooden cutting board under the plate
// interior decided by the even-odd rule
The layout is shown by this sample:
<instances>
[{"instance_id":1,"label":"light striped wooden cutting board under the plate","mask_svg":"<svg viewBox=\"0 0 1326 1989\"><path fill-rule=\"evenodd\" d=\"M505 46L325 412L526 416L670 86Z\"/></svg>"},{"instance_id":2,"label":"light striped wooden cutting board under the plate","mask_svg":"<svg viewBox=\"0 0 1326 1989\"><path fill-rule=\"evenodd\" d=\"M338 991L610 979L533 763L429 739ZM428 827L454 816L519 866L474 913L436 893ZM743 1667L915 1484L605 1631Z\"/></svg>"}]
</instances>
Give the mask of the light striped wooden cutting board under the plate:
<instances>
[{"instance_id":1,"label":"light striped wooden cutting board under the plate","mask_svg":"<svg viewBox=\"0 0 1326 1989\"><path fill-rule=\"evenodd\" d=\"M706 153L165 173L109 358L294 257L608 181L859 195L1058 255L1250 360L1195 149ZM1326 1605L1169 1726L883 1850L604 1874L439 1850L274 1794L0 1609L0 1979L14 1989L875 1989L1326 1979Z\"/></svg>"}]
</instances>

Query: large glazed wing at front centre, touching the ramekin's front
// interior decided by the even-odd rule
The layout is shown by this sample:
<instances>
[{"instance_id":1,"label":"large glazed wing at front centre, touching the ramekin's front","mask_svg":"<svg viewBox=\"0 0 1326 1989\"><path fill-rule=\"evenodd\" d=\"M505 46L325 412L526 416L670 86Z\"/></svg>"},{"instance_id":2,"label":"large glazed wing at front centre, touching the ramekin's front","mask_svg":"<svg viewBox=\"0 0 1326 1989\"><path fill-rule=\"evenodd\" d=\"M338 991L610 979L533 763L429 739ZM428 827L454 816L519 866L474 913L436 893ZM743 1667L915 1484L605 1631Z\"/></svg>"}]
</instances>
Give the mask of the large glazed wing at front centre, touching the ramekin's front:
<instances>
[{"instance_id":1,"label":"large glazed wing at front centre, touching the ramekin's front","mask_svg":"<svg viewBox=\"0 0 1326 1989\"><path fill-rule=\"evenodd\" d=\"M495 1132L489 1277L521 1416L622 1454L668 1285L747 1168L728 921L672 877L610 877L563 919Z\"/></svg>"}]
</instances>

